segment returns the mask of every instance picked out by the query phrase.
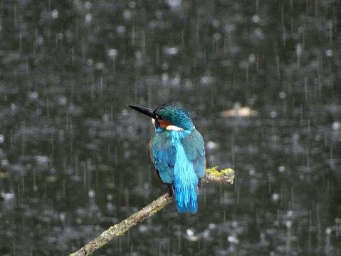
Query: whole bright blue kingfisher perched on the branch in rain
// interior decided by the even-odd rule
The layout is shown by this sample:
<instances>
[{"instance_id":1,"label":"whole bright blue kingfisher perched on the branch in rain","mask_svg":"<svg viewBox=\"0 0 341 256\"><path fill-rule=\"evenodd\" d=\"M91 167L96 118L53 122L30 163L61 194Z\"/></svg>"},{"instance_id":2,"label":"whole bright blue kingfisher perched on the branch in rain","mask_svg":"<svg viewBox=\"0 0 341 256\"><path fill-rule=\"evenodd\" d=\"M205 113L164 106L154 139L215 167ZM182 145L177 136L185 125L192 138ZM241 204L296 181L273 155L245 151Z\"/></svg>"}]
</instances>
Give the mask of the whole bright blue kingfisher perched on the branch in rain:
<instances>
[{"instance_id":1,"label":"whole bright blue kingfisher perched on the branch in rain","mask_svg":"<svg viewBox=\"0 0 341 256\"><path fill-rule=\"evenodd\" d=\"M149 155L157 178L174 196L178 213L197 213L206 160L204 139L189 112L166 104L155 109L129 106L152 118L155 133L149 141Z\"/></svg>"}]
</instances>

